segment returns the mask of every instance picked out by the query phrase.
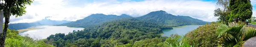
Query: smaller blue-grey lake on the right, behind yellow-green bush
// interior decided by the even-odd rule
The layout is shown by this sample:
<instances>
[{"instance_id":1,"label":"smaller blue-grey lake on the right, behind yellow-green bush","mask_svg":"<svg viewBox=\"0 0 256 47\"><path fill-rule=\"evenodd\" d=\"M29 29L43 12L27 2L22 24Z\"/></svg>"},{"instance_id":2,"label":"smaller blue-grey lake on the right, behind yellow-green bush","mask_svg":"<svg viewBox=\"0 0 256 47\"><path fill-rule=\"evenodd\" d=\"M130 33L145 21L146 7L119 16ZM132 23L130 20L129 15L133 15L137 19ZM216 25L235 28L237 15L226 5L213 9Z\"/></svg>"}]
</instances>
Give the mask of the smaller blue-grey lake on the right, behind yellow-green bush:
<instances>
[{"instance_id":1,"label":"smaller blue-grey lake on the right, behind yellow-green bush","mask_svg":"<svg viewBox=\"0 0 256 47\"><path fill-rule=\"evenodd\" d=\"M202 26L202 25L188 25L186 27L175 28L172 30L163 30L162 36L170 37L171 34L179 34L182 36L182 35L185 35L186 33L188 33L189 31L197 29L199 26Z\"/></svg>"}]
</instances>

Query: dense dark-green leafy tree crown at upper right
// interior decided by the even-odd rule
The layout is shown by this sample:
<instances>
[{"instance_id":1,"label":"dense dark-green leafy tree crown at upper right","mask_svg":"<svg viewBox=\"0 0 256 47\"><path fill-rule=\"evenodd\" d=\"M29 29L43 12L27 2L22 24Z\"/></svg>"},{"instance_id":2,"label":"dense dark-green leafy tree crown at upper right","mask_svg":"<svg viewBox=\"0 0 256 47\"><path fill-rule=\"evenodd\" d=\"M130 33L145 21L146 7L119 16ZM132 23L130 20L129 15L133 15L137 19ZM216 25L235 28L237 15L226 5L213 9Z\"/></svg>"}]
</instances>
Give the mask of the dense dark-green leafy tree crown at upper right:
<instances>
[{"instance_id":1,"label":"dense dark-green leafy tree crown at upper right","mask_svg":"<svg viewBox=\"0 0 256 47\"><path fill-rule=\"evenodd\" d=\"M245 21L253 14L250 0L230 0L229 8L231 10L229 21Z\"/></svg>"}]
</instances>

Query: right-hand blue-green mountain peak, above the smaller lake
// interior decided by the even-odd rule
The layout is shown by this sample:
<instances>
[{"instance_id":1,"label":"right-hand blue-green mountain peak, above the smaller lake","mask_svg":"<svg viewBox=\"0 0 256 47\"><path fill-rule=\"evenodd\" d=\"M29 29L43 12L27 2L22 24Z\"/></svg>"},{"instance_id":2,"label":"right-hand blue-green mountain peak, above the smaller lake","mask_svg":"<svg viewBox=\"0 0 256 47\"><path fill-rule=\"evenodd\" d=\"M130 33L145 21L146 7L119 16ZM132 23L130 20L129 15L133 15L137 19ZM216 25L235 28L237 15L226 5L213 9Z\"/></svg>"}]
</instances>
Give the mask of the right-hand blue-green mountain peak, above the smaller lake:
<instances>
[{"instance_id":1,"label":"right-hand blue-green mountain peak, above the smaller lake","mask_svg":"<svg viewBox=\"0 0 256 47\"><path fill-rule=\"evenodd\" d=\"M189 16L174 16L172 14L166 13L166 11L163 10L150 12L144 16L137 17L137 19L157 22L168 26L184 26L207 23L206 21L191 18Z\"/></svg>"}]
</instances>

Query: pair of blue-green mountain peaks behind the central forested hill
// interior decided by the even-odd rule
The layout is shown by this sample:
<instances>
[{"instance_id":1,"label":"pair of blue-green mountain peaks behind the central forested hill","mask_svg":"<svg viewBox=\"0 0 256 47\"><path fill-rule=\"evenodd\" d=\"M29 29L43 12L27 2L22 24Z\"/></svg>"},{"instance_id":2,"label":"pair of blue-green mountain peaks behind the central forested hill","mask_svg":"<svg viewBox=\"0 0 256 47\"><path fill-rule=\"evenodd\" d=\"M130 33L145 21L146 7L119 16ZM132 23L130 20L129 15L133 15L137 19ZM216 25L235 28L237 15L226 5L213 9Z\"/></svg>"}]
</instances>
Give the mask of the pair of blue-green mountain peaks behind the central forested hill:
<instances>
[{"instance_id":1,"label":"pair of blue-green mountain peaks behind the central forested hill","mask_svg":"<svg viewBox=\"0 0 256 47\"><path fill-rule=\"evenodd\" d=\"M122 14L121 16L92 14L81 20L73 21L70 23L64 23L57 26L70 26L70 27L96 26L96 25L101 25L102 23L107 21L113 21L121 18L132 18L132 17L125 14ZM183 25L207 23L206 21L191 18L189 16L174 16L172 14L166 13L166 11L163 11L163 10L150 12L144 16L137 17L137 19L140 19L143 21L156 22L156 23L164 24L166 26L183 26Z\"/></svg>"}]
</instances>

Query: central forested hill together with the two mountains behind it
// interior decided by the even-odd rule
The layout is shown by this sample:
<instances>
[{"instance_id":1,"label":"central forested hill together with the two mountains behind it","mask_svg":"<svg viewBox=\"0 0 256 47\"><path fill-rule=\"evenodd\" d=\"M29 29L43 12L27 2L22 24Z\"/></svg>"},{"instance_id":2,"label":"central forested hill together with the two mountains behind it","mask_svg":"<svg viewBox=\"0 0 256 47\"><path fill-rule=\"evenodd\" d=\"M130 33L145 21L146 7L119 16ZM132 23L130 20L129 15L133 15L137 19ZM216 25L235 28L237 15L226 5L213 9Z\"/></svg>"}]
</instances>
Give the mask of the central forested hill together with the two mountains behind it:
<instances>
[{"instance_id":1,"label":"central forested hill together with the two mountains behind it","mask_svg":"<svg viewBox=\"0 0 256 47\"><path fill-rule=\"evenodd\" d=\"M50 35L44 42L55 47L114 47L123 45L139 47L141 42L136 41L144 39L158 39L157 43L161 42L163 44L163 41L168 38L160 35L164 29L172 29L173 26L205 23L207 22L189 16L174 16L163 10L154 11L137 18L128 15L92 14L84 19L59 25L84 27L84 30L73 31L67 35L61 33ZM152 42L155 41L152 40ZM154 45L157 46L157 43L154 43ZM170 39L169 43L172 43Z\"/></svg>"}]
</instances>

